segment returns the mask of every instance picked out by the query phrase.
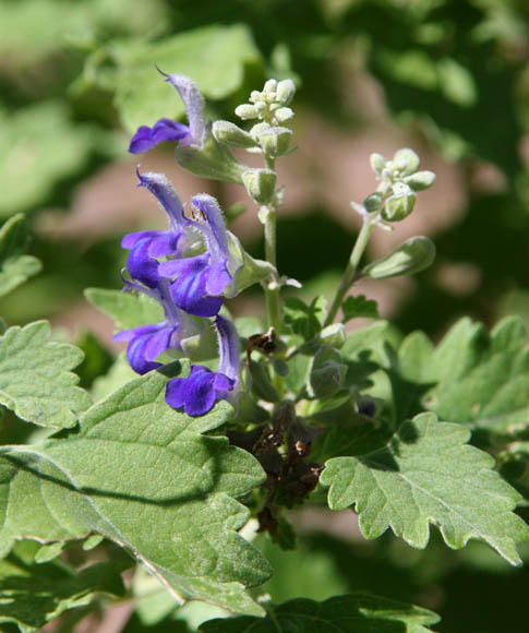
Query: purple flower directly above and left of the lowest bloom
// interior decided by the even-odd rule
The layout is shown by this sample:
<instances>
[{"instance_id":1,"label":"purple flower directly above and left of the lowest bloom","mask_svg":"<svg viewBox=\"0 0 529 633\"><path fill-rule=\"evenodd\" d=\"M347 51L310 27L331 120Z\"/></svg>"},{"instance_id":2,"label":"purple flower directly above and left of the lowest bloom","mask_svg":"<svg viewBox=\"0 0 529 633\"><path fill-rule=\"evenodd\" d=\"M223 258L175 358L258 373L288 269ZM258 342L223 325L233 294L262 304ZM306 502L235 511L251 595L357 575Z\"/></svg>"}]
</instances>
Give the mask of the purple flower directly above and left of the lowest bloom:
<instances>
[{"instance_id":1,"label":"purple flower directly above and left of the lowest bloom","mask_svg":"<svg viewBox=\"0 0 529 633\"><path fill-rule=\"evenodd\" d=\"M129 341L127 359L132 369L144 374L160 367L156 359L168 349L181 350L182 338L188 338L200 332L195 321L179 310L172 302L167 282L161 280L156 288L145 288L140 284L127 282L125 289L140 290L156 299L165 312L165 321L152 325L141 325L132 330L119 332L113 341Z\"/></svg>"}]
</instances>

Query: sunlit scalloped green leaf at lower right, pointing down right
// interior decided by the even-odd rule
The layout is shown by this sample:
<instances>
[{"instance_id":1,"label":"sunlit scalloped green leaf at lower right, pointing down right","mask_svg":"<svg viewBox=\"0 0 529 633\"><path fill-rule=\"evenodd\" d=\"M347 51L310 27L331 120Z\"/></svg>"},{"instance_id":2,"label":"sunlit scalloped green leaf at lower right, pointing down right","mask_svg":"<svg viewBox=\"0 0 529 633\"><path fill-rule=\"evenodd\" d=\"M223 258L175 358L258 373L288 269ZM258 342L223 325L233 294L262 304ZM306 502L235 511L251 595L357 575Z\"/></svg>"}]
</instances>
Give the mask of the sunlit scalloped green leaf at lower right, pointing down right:
<instances>
[{"instance_id":1,"label":"sunlit scalloped green leaf at lower right, pointing down right","mask_svg":"<svg viewBox=\"0 0 529 633\"><path fill-rule=\"evenodd\" d=\"M494 459L466 445L470 432L434 414L405 421L389 442L356 457L335 457L321 482L333 510L356 504L360 529L375 538L390 527L424 548L430 523L455 549L482 540L512 564L529 527L512 511L520 495L493 470Z\"/></svg>"}]
</instances>

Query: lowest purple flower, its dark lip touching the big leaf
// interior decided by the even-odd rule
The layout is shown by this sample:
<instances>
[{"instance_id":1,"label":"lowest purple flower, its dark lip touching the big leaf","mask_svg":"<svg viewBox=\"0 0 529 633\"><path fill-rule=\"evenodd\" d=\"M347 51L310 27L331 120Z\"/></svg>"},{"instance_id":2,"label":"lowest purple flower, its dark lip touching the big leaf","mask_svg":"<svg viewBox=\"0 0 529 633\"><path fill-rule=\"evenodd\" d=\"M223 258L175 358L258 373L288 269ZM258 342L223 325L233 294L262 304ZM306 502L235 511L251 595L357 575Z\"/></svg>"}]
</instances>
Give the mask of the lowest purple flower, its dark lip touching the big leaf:
<instances>
[{"instance_id":1,"label":"lowest purple flower, its dark lip touching the big leaf","mask_svg":"<svg viewBox=\"0 0 529 633\"><path fill-rule=\"evenodd\" d=\"M166 403L189 416L203 416L219 399L235 401L239 391L239 337L232 323L215 319L219 345L218 371L192 365L188 378L167 382Z\"/></svg>"}]
</instances>

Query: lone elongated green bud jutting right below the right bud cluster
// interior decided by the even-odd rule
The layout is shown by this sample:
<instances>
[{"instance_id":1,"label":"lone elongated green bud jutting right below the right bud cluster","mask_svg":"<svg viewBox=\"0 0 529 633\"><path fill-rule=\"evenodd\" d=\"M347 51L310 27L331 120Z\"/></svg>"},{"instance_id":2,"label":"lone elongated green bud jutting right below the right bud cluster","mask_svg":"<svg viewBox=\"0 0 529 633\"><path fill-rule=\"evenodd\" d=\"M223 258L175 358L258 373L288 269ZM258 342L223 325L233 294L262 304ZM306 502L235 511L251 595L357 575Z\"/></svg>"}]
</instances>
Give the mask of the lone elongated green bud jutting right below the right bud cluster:
<instances>
[{"instance_id":1,"label":"lone elongated green bud jutting right below the right bud cluster","mask_svg":"<svg viewBox=\"0 0 529 633\"><path fill-rule=\"evenodd\" d=\"M435 246L431 239L418 236L406 240L382 260L372 262L362 271L371 279L387 279L399 275L411 275L428 268L435 259Z\"/></svg>"}]
</instances>

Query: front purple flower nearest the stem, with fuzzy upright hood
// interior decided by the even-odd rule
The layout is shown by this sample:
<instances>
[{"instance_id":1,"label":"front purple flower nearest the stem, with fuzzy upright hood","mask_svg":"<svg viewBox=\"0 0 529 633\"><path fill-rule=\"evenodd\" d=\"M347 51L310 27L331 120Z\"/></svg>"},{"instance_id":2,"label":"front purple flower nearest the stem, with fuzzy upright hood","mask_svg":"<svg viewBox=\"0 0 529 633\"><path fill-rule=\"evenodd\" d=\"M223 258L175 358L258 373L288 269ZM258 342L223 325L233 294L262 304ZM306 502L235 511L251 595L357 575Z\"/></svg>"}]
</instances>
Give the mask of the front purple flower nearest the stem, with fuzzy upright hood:
<instances>
[{"instance_id":1,"label":"front purple flower nearest the stem, with fuzzy upright hood","mask_svg":"<svg viewBox=\"0 0 529 633\"><path fill-rule=\"evenodd\" d=\"M192 203L201 219L189 223L202 235L206 252L163 262L158 272L173 282L171 295L179 308L197 316L214 316L223 302L219 295L233 283L240 264L230 256L226 226L217 201L201 193L192 198Z\"/></svg>"}]
</instances>

